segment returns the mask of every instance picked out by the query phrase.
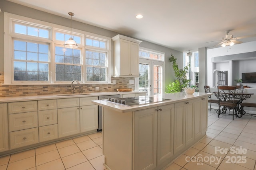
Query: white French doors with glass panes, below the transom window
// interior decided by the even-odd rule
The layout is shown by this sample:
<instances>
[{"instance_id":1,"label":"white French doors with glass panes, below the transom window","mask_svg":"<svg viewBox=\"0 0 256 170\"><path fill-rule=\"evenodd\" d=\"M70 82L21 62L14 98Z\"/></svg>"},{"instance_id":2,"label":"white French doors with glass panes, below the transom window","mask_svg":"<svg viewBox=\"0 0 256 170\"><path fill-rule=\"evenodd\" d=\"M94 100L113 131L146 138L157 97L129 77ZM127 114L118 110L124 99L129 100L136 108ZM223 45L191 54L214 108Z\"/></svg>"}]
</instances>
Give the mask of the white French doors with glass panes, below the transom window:
<instances>
[{"instance_id":1,"label":"white French doors with glass panes, below the transom window","mask_svg":"<svg viewBox=\"0 0 256 170\"><path fill-rule=\"evenodd\" d=\"M146 95L162 94L163 64L161 61L140 59L139 91L146 92Z\"/></svg>"}]
</instances>

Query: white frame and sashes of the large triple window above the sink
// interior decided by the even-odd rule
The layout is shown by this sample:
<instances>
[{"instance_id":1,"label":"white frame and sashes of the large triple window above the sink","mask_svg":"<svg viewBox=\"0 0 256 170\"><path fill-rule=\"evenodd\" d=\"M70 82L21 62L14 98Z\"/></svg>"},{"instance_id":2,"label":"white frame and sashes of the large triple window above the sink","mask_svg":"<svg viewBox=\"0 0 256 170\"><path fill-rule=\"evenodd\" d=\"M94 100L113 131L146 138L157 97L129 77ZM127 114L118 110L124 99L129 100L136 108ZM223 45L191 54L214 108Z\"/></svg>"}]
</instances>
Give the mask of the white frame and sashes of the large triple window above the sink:
<instances>
[{"instance_id":1,"label":"white frame and sashes of the large triple window above the sink","mask_svg":"<svg viewBox=\"0 0 256 170\"><path fill-rule=\"evenodd\" d=\"M42 29L47 29L49 31L49 38L36 37L33 35L24 35L19 33L14 33L14 24L18 23L20 25L26 25L31 27L40 27ZM22 84L69 84L72 81L56 81L56 63L55 63L55 46L63 45L64 41L56 40L56 32L70 34L70 27L65 27L62 25L56 25L54 23L49 23L45 21L35 20L32 18L27 18L23 16L18 16L16 14L11 14L4 12L4 84L6 85L22 85ZM72 36L79 36L81 43L78 43L78 48L81 49L81 81L82 84L111 84L111 38L103 35L98 35L94 33L89 33L86 31L78 30L72 28ZM106 42L106 49L97 49L95 47L88 47L85 45L86 38L91 38L98 41ZM14 39L23 39L24 41L35 41L38 43L48 43L49 44L49 78L48 81L14 81ZM87 81L86 80L86 49L92 49L98 52L106 53L106 67L107 76L106 81ZM11 56L11 57L10 57ZM10 59L11 58L11 59ZM9 66L9 67L6 67Z\"/></svg>"}]
</instances>

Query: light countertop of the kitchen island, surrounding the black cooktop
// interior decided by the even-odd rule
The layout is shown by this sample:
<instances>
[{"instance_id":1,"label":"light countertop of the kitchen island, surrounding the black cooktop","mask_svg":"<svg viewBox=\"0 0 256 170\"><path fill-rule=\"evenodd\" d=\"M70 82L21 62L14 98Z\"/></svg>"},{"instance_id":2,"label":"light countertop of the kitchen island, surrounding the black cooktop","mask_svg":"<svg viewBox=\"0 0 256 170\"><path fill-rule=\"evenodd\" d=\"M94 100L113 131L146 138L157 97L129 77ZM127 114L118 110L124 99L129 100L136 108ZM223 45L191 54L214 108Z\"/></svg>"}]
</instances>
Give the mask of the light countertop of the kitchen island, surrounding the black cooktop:
<instances>
[{"instance_id":1,"label":"light countertop of the kitchen island, surrounding the black cooktop","mask_svg":"<svg viewBox=\"0 0 256 170\"><path fill-rule=\"evenodd\" d=\"M185 92L179 92L179 93L172 93L172 94L161 94L161 95L154 95L154 97L164 98L164 99L170 99L163 102L154 102L150 104L143 104L143 105L137 105L137 106L126 106L122 104L116 104L113 102L108 102L106 100L92 100L92 103L97 104L99 106L108 107L110 109L114 109L116 111L120 111L122 113L128 112L128 111L136 111L140 109L147 109L150 107L158 107L166 104L174 104L177 102L182 102L190 99L195 98L201 98L205 97L208 98L208 95L211 95L212 93L201 93L201 92L195 92L193 94L186 94ZM153 96L152 96L153 97Z\"/></svg>"}]
</instances>

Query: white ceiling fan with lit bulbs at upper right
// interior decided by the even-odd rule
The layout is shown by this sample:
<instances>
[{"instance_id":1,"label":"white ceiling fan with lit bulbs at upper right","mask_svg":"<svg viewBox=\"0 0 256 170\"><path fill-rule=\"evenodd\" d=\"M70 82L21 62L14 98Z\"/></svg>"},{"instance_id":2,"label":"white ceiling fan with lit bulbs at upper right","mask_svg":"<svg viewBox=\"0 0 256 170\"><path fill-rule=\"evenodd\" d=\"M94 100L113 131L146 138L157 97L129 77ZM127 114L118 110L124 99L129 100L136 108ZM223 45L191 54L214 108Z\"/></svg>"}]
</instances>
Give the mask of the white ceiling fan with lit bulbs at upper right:
<instances>
[{"instance_id":1,"label":"white ceiling fan with lit bulbs at upper right","mask_svg":"<svg viewBox=\"0 0 256 170\"><path fill-rule=\"evenodd\" d=\"M235 44L241 44L243 43L242 41L238 41L237 39L243 39L243 38L248 38L248 37L255 37L256 34L252 34L252 35L245 35L245 36L241 36L241 37L234 37L233 35L228 35L228 33L230 32L230 30L226 31L226 36L225 38L222 38L222 40L218 40L221 41L220 43L218 43L217 45L214 45L214 47L217 47L218 45L221 45L222 47L226 47L226 46L232 46ZM206 42L206 43L212 43L212 42L218 42L218 41L210 41L210 42Z\"/></svg>"}]
</instances>

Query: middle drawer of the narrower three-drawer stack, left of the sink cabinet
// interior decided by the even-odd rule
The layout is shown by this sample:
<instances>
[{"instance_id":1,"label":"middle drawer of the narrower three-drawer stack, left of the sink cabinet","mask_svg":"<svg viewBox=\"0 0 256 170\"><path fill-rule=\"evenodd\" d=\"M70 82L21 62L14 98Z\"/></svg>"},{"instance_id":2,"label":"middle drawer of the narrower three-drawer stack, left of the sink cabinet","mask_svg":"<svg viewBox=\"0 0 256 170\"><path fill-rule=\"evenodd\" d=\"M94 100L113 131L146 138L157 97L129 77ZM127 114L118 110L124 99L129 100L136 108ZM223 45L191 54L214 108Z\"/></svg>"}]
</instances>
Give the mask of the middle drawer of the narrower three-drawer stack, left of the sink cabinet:
<instances>
[{"instance_id":1,"label":"middle drawer of the narrower three-drawer stack, left of the sink cabinet","mask_svg":"<svg viewBox=\"0 0 256 170\"><path fill-rule=\"evenodd\" d=\"M38 111L38 126L57 123L57 109Z\"/></svg>"}]
</instances>

